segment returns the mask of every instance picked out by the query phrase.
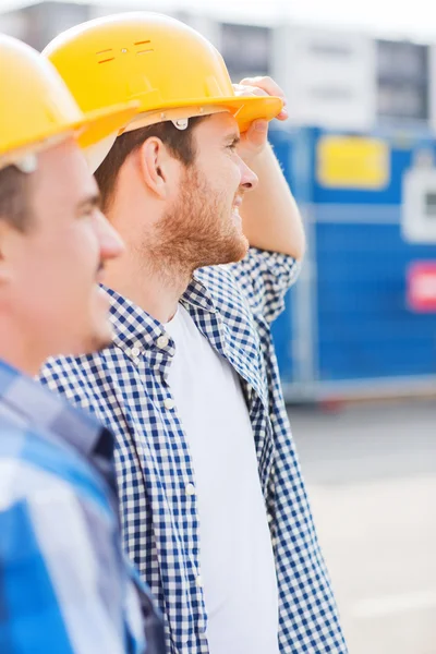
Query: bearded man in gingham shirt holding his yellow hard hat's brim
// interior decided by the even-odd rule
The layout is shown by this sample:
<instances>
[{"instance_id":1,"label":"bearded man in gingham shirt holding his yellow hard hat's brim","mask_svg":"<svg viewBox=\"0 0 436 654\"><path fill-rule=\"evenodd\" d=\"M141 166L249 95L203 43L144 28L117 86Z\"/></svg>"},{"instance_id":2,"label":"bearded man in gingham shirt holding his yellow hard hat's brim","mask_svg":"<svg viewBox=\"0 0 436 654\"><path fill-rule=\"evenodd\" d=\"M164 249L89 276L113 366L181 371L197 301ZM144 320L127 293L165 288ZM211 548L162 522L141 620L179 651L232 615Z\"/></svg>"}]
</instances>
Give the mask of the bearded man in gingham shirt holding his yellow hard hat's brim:
<instances>
[{"instance_id":1,"label":"bearded man in gingham shirt holding his yellow hard hat's brim","mask_svg":"<svg viewBox=\"0 0 436 654\"><path fill-rule=\"evenodd\" d=\"M126 243L105 287L113 346L43 380L117 434L124 546L168 647L343 654L270 335L304 251L267 144L282 94L234 88L205 38L153 13L84 23L45 55L83 109L141 104L89 152Z\"/></svg>"}]
</instances>

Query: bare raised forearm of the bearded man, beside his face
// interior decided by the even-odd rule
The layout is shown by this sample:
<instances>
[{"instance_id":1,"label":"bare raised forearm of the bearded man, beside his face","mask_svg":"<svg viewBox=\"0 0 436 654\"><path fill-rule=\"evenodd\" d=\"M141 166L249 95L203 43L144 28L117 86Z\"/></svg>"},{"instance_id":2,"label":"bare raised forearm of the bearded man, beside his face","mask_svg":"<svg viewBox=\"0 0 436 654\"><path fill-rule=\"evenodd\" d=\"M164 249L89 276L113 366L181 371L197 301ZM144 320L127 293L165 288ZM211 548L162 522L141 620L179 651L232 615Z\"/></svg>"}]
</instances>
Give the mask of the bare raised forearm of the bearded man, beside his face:
<instances>
[{"instance_id":1,"label":"bare raised forearm of the bearded man, beside his face","mask_svg":"<svg viewBox=\"0 0 436 654\"><path fill-rule=\"evenodd\" d=\"M268 144L249 166L259 180L256 189L245 195L241 207L250 245L301 259L305 235L300 211L271 146Z\"/></svg>"}]
</instances>

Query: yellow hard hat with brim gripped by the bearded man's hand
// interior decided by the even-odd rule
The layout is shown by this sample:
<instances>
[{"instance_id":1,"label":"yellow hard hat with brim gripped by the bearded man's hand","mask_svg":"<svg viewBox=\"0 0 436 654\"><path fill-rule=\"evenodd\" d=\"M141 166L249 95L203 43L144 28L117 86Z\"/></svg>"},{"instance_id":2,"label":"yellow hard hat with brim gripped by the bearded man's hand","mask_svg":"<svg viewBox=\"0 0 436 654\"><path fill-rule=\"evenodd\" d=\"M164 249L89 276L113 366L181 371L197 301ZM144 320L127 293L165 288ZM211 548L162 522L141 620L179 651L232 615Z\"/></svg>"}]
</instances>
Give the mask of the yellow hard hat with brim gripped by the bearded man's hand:
<instances>
[{"instance_id":1,"label":"yellow hard hat with brim gripped by the bearded man's hand","mask_svg":"<svg viewBox=\"0 0 436 654\"><path fill-rule=\"evenodd\" d=\"M195 29L158 13L83 23L43 53L84 111L134 99L142 125L227 110L243 132L255 119L271 120L283 106L278 97L237 96L218 50Z\"/></svg>"}]
</instances>

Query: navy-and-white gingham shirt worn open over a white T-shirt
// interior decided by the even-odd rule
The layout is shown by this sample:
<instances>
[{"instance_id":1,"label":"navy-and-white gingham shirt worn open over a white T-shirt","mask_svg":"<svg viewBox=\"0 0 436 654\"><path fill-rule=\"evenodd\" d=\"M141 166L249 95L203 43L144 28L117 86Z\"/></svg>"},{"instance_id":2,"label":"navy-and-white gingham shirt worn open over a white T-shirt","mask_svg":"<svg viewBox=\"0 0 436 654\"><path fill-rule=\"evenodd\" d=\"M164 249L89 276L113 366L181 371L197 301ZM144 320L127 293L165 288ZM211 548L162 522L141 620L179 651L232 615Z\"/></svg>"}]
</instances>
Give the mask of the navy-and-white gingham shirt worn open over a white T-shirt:
<instances>
[{"instance_id":1,"label":"navy-and-white gingham shirt worn open over a white T-shirt","mask_svg":"<svg viewBox=\"0 0 436 654\"><path fill-rule=\"evenodd\" d=\"M280 652L343 654L270 336L298 269L289 256L252 249L240 264L197 270L180 302L241 379L277 564ZM206 654L195 474L167 382L174 343L146 312L108 293L113 347L51 361L43 379L114 431L126 552L165 614L170 652Z\"/></svg>"}]
</instances>

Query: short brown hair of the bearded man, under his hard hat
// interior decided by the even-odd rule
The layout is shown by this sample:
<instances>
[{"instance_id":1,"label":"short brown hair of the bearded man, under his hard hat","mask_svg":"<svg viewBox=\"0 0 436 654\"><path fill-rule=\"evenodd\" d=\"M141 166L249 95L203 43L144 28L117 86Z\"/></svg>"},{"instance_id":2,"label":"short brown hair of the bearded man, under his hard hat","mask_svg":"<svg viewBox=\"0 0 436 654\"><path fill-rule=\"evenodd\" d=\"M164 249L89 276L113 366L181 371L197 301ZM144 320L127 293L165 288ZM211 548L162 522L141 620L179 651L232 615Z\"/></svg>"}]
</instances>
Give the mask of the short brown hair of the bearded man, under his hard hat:
<instances>
[{"instance_id":1,"label":"short brown hair of the bearded man, under his hard hat","mask_svg":"<svg viewBox=\"0 0 436 654\"><path fill-rule=\"evenodd\" d=\"M171 154L182 164L191 166L196 155L192 137L193 130L207 116L190 118L186 130L178 130L171 121L166 121L121 134L95 172L101 193L102 209L107 210L110 205L118 175L125 159L152 136L160 138Z\"/></svg>"}]
</instances>

